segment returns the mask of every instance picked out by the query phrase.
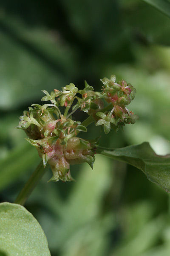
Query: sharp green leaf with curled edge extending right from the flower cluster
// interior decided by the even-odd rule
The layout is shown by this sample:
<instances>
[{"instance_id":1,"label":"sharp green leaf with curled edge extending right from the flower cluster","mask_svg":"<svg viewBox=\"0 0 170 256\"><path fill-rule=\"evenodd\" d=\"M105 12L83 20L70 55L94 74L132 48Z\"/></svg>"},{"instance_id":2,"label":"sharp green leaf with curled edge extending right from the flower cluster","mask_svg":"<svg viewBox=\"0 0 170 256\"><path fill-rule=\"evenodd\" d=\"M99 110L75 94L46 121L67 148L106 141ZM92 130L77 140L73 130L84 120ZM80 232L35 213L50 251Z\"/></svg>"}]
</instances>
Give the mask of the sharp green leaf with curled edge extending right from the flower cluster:
<instances>
[{"instance_id":1,"label":"sharp green leaf with curled edge extending right from the flower cluster","mask_svg":"<svg viewBox=\"0 0 170 256\"><path fill-rule=\"evenodd\" d=\"M99 147L96 153L135 166L142 170L150 181L170 192L170 154L157 155L147 142L111 150Z\"/></svg>"}]
</instances>

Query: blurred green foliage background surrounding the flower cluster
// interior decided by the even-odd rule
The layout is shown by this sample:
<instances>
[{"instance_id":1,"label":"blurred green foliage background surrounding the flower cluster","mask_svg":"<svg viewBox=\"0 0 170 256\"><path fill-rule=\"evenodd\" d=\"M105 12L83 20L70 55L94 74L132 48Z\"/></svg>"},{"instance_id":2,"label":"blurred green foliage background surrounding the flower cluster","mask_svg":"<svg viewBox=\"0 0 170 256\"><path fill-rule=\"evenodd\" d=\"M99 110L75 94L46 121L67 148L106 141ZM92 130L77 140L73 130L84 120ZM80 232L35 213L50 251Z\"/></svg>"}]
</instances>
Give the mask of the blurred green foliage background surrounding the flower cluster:
<instances>
[{"instance_id":1,"label":"blurred green foliage background surrounding the flower cluster","mask_svg":"<svg viewBox=\"0 0 170 256\"><path fill-rule=\"evenodd\" d=\"M40 162L15 127L41 90L115 74L137 90L135 125L116 134L89 128L111 148L149 141L170 153L170 19L141 0L0 1L0 202L13 202ZM77 119L82 120L81 114ZM26 208L52 256L169 256L170 198L132 166L96 156L71 167L75 183L42 178Z\"/></svg>"}]
</instances>

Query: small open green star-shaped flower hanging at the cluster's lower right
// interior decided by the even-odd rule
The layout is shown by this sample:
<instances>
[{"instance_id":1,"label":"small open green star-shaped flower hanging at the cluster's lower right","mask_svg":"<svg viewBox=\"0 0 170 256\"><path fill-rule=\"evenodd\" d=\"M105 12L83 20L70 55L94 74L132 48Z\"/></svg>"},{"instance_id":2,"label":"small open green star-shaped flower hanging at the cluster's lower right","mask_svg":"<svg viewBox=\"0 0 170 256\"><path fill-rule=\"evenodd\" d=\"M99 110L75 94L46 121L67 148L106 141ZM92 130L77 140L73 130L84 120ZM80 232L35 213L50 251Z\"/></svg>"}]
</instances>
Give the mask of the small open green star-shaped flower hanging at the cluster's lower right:
<instances>
[{"instance_id":1,"label":"small open green star-shaped flower hanging at the cluster's lower right","mask_svg":"<svg viewBox=\"0 0 170 256\"><path fill-rule=\"evenodd\" d=\"M111 115L106 115L105 113L97 112L96 116L99 116L101 118L99 119L99 121L96 122L96 126L104 125L105 134L108 134L111 130L111 123L113 125L116 125L116 120L113 117L111 117Z\"/></svg>"}]
</instances>

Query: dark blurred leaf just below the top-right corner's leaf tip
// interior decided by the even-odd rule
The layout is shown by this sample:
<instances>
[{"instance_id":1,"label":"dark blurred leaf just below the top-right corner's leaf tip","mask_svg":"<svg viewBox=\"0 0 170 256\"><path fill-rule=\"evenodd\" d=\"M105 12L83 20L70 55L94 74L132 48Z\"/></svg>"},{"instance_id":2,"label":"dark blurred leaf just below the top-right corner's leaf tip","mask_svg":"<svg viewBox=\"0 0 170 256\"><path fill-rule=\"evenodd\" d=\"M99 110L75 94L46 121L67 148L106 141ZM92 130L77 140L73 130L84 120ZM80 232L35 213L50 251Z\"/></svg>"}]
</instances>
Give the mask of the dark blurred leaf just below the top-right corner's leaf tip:
<instances>
[{"instance_id":1,"label":"dark blurred leaf just below the top-right corner's leaf tip","mask_svg":"<svg viewBox=\"0 0 170 256\"><path fill-rule=\"evenodd\" d=\"M170 20L152 6L136 1L132 8L124 10L124 20L125 27L141 44L170 45Z\"/></svg>"}]
</instances>

